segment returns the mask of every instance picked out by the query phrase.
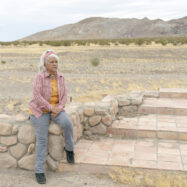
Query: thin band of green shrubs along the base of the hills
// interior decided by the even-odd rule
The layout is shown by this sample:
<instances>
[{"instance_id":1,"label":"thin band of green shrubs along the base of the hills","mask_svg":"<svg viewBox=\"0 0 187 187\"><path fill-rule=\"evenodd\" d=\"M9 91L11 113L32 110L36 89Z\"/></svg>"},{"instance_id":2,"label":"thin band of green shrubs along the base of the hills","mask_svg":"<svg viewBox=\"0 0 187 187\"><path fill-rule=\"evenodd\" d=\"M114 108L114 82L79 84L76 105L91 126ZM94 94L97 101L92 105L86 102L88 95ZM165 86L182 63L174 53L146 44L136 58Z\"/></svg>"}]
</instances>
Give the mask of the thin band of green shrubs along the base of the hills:
<instances>
[{"instance_id":1,"label":"thin band of green shrubs along the base of the hills","mask_svg":"<svg viewBox=\"0 0 187 187\"><path fill-rule=\"evenodd\" d=\"M135 45L150 45L152 42L162 45L173 44L183 45L187 44L187 36L184 37L155 37L155 38L125 38L125 39L94 39L94 40L62 40L62 41L12 41L12 42L0 42L1 46L28 46L32 44L50 45L50 46L89 46L90 44L96 45L119 45L119 44L135 44Z\"/></svg>"}]
</instances>

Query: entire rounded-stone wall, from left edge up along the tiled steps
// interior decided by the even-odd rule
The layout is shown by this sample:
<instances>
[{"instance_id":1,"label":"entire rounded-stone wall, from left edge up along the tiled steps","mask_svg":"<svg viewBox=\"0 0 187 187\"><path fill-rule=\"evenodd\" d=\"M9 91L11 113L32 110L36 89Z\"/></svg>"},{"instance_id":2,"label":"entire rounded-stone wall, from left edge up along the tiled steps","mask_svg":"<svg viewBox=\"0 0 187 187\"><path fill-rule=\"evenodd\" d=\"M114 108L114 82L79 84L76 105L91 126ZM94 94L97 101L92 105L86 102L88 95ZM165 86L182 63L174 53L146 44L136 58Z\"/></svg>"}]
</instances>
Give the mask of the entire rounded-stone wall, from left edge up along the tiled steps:
<instances>
[{"instance_id":1,"label":"entire rounded-stone wall, from left edge up along the tiled steps","mask_svg":"<svg viewBox=\"0 0 187 187\"><path fill-rule=\"evenodd\" d=\"M106 96L100 102L72 103L66 112L74 125L74 142L81 137L106 135L107 127L120 116L137 115L144 97L158 97L158 92L131 92ZM65 160L63 130L54 122L49 126L46 169L56 171ZM34 170L35 133L28 116L0 115L0 168L19 167Z\"/></svg>"}]
</instances>

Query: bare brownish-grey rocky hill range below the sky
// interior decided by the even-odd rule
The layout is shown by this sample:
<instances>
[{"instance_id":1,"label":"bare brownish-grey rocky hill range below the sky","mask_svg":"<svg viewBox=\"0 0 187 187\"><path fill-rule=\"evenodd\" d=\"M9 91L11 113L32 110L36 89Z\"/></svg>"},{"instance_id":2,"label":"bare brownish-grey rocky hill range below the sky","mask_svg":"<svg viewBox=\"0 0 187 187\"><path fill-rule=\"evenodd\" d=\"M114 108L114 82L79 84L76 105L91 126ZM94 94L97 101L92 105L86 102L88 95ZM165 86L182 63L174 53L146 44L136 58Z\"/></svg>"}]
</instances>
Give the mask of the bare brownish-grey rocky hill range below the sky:
<instances>
[{"instance_id":1,"label":"bare brownish-grey rocky hill range below the sky","mask_svg":"<svg viewBox=\"0 0 187 187\"><path fill-rule=\"evenodd\" d=\"M187 16L170 21L91 17L75 24L38 32L21 40L119 39L173 35L187 35Z\"/></svg>"}]
</instances>

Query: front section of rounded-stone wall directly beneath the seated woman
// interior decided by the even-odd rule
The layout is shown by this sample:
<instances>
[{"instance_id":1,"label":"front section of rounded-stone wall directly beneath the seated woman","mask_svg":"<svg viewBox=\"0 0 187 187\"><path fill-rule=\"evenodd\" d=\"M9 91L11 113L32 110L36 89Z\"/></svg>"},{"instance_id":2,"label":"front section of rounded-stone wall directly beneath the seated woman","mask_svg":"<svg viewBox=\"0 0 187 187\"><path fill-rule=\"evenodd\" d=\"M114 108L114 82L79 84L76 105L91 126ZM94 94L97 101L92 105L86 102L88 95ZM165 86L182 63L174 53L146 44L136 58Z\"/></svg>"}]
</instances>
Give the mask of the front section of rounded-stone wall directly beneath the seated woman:
<instances>
[{"instance_id":1,"label":"front section of rounded-stone wall directly beneath the seated woman","mask_svg":"<svg viewBox=\"0 0 187 187\"><path fill-rule=\"evenodd\" d=\"M74 142L83 133L83 110L74 104L67 108L74 125ZM60 160L65 159L63 130L51 122L48 129L46 169L57 170ZM0 115L0 168L19 167L34 170L36 137L28 119Z\"/></svg>"}]
</instances>

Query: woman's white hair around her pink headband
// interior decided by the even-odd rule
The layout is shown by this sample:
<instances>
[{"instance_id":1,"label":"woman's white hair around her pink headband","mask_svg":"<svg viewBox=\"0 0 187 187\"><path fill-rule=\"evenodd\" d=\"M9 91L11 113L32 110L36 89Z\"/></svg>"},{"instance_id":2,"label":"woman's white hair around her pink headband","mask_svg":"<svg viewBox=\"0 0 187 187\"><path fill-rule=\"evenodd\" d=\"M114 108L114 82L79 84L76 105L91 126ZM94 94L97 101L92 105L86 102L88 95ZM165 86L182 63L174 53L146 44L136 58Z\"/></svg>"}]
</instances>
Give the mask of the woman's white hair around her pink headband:
<instances>
[{"instance_id":1,"label":"woman's white hair around her pink headband","mask_svg":"<svg viewBox=\"0 0 187 187\"><path fill-rule=\"evenodd\" d=\"M47 56L47 58L45 59L45 55L49 52L53 52L53 53ZM59 57L55 54L55 51L52 49L48 49L47 51L43 52L43 54L40 57L39 72L46 71L45 60L46 62L48 62L50 57L54 57L57 60L57 62L59 62Z\"/></svg>"}]
</instances>

